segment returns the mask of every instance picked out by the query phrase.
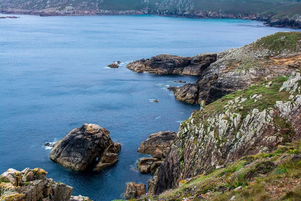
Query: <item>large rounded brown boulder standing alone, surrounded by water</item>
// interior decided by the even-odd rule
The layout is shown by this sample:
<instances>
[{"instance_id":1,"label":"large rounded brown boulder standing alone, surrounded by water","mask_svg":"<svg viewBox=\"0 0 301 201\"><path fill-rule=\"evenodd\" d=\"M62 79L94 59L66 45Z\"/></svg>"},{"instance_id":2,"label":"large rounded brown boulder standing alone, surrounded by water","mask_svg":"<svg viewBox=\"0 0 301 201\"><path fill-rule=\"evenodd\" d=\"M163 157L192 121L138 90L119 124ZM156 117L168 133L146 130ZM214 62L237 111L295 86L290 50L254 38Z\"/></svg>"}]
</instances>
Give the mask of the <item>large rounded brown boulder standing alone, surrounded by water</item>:
<instances>
[{"instance_id":1,"label":"large rounded brown boulder standing alone, surrounded by water","mask_svg":"<svg viewBox=\"0 0 301 201\"><path fill-rule=\"evenodd\" d=\"M116 145L116 147L115 147ZM95 124L83 124L58 141L49 158L77 171L97 167L97 170L117 162L120 144L110 138L110 132Z\"/></svg>"}]
</instances>

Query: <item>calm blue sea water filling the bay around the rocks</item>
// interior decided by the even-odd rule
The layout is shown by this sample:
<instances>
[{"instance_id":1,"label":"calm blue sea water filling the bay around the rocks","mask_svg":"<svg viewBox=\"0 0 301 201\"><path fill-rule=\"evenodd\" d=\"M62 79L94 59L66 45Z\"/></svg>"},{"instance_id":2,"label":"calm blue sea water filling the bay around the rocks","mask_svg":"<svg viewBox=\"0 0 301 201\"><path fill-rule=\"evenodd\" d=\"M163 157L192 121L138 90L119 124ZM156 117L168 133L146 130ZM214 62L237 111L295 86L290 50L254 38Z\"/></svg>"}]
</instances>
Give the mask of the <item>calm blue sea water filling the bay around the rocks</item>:
<instances>
[{"instance_id":1,"label":"calm blue sea water filling the bay around the rocks","mask_svg":"<svg viewBox=\"0 0 301 201\"><path fill-rule=\"evenodd\" d=\"M199 108L178 102L167 90L180 85L174 80L196 77L137 74L125 62L161 53L218 52L288 30L253 21L156 16L0 19L0 172L42 167L48 177L73 186L74 195L122 198L126 182L146 184L152 177L135 170L143 157L139 144L152 133L177 131ZM105 68L116 60L124 64ZM44 143L83 123L105 127L121 143L113 168L80 173L49 160Z\"/></svg>"}]
</instances>

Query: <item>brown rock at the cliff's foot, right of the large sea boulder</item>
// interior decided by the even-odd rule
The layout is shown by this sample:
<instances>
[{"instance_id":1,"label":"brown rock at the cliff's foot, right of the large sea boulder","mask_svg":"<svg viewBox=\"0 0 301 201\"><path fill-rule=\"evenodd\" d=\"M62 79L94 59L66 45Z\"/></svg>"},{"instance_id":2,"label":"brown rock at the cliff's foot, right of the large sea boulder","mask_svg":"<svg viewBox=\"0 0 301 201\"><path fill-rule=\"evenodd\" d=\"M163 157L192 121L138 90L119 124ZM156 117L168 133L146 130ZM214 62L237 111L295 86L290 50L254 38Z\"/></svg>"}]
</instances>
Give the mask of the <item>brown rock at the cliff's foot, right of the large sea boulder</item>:
<instances>
[{"instance_id":1,"label":"brown rock at the cliff's foot, right of the large sea boulder","mask_svg":"<svg viewBox=\"0 0 301 201\"><path fill-rule=\"evenodd\" d=\"M150 154L155 158L165 158L176 139L176 135L175 132L171 131L154 133L140 144L138 152Z\"/></svg>"}]
</instances>

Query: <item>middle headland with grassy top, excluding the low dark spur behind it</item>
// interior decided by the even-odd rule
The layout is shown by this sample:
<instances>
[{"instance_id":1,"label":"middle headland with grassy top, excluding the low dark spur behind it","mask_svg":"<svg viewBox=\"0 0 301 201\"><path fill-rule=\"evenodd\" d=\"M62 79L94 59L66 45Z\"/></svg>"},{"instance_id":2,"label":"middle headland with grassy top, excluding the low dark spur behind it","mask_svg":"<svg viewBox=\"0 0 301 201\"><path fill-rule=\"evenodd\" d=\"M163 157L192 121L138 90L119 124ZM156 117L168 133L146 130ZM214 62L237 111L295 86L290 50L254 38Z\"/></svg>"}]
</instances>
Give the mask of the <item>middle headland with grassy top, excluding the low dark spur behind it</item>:
<instances>
[{"instance_id":1,"label":"middle headland with grassy top, excluding the low dark spur behind it","mask_svg":"<svg viewBox=\"0 0 301 201\"><path fill-rule=\"evenodd\" d=\"M200 104L205 100L210 104L233 91L290 74L301 67L300 43L287 40L290 35L301 39L299 33L276 33L244 47L220 52L217 61L201 73L196 83L170 89L178 100L190 104ZM293 48L277 45L282 43L291 43Z\"/></svg>"}]
</instances>

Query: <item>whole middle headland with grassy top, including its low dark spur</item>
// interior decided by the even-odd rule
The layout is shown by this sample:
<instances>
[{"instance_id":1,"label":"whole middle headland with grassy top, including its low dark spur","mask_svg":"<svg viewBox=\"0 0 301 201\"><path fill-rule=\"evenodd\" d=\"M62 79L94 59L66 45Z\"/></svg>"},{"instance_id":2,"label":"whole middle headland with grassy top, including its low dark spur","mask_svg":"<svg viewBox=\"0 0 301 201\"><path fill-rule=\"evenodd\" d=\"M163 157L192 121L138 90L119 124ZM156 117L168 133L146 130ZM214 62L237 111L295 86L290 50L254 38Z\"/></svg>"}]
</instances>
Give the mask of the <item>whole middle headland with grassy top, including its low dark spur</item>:
<instances>
[{"instance_id":1,"label":"whole middle headland with grassy top, including its low dark spur","mask_svg":"<svg viewBox=\"0 0 301 201\"><path fill-rule=\"evenodd\" d=\"M272 43L272 45L269 45ZM301 66L299 32L276 33L244 47L195 57L158 55L128 64L136 72L196 75L195 83L170 87L190 104L210 104L260 81L287 75Z\"/></svg>"}]
</instances>

